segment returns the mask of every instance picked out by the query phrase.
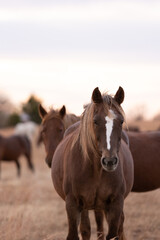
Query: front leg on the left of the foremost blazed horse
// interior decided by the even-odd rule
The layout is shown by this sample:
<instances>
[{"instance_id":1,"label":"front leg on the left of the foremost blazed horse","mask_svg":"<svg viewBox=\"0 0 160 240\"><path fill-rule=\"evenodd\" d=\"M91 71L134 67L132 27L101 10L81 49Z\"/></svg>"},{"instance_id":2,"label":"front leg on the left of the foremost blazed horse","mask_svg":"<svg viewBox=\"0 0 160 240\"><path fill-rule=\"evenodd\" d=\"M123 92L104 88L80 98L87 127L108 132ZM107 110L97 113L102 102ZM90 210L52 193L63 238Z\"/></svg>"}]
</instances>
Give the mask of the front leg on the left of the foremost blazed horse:
<instances>
[{"instance_id":1,"label":"front leg on the left of the foremost blazed horse","mask_svg":"<svg viewBox=\"0 0 160 240\"><path fill-rule=\"evenodd\" d=\"M80 219L80 211L72 196L66 197L66 211L68 217L68 236L67 240L79 240L78 224Z\"/></svg>"}]
</instances>

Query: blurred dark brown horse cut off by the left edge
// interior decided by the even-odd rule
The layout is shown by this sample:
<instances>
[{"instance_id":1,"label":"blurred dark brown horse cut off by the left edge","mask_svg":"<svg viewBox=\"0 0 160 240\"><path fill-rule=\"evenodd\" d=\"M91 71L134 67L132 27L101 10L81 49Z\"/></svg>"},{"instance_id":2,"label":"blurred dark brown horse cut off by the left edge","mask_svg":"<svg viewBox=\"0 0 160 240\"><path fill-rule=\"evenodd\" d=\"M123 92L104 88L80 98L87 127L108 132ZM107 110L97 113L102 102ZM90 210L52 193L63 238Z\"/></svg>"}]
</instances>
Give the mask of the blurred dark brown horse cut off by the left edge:
<instances>
[{"instance_id":1,"label":"blurred dark brown horse cut off by the left edge","mask_svg":"<svg viewBox=\"0 0 160 240\"><path fill-rule=\"evenodd\" d=\"M0 135L0 163L1 161L14 161L17 167L17 175L21 174L19 157L24 155L27 158L28 167L34 171L31 159L31 143L27 136L12 135L4 137Z\"/></svg>"}]
</instances>

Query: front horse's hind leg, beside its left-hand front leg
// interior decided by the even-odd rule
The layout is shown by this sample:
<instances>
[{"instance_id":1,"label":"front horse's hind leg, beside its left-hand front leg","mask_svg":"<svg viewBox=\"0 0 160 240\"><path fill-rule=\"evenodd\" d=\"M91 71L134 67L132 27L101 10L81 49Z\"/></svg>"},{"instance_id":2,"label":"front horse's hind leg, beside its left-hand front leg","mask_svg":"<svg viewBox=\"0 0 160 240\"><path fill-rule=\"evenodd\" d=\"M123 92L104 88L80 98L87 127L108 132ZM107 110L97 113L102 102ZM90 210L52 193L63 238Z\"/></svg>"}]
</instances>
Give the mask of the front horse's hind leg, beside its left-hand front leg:
<instances>
[{"instance_id":1,"label":"front horse's hind leg, beside its left-hand front leg","mask_svg":"<svg viewBox=\"0 0 160 240\"><path fill-rule=\"evenodd\" d=\"M80 232L83 240L89 240L91 236L91 226L88 216L88 210L81 212Z\"/></svg>"}]
</instances>

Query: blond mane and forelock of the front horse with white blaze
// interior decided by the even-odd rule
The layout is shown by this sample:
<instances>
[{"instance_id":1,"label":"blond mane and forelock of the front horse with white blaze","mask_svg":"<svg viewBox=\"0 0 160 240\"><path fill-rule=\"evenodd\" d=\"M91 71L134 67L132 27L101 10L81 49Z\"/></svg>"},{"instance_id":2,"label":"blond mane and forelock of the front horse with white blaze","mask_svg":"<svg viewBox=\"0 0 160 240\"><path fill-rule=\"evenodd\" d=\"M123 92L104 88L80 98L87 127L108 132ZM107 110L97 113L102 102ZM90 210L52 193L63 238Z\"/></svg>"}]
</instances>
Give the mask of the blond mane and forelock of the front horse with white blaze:
<instances>
[{"instance_id":1,"label":"blond mane and forelock of the front horse with white blaze","mask_svg":"<svg viewBox=\"0 0 160 240\"><path fill-rule=\"evenodd\" d=\"M102 97L103 107L106 115L109 114L109 109L114 108L125 119L125 114L122 107L111 95L104 93ZM89 159L89 153L92 153L95 157L100 156L93 122L95 107L96 103L94 102L85 105L85 110L80 120L80 127L74 132L74 139L72 141L72 147L79 141L81 152L85 160Z\"/></svg>"}]
</instances>

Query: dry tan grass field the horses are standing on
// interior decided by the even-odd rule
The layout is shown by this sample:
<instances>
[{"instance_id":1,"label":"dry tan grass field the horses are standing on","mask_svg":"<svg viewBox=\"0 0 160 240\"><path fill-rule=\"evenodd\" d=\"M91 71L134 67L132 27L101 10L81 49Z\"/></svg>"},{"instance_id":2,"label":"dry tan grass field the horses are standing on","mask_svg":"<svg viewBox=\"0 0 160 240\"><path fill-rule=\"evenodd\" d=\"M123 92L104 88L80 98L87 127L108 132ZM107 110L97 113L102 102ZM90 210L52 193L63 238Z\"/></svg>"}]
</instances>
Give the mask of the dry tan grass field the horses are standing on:
<instances>
[{"instance_id":1,"label":"dry tan grass field the horses are standing on","mask_svg":"<svg viewBox=\"0 0 160 240\"><path fill-rule=\"evenodd\" d=\"M146 127L145 127L146 126ZM152 130L160 123L142 123ZM145 128L145 129L144 129ZM12 129L1 130L9 135ZM36 171L29 171L21 157L22 176L17 178L14 163L1 164L0 240L63 240L67 219L63 200L55 192L50 169L44 162L44 147L33 143ZM96 239L93 213L90 213L92 238ZM125 201L125 232L128 240L160 239L160 190L130 193Z\"/></svg>"}]
</instances>

